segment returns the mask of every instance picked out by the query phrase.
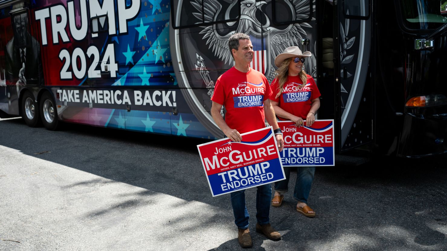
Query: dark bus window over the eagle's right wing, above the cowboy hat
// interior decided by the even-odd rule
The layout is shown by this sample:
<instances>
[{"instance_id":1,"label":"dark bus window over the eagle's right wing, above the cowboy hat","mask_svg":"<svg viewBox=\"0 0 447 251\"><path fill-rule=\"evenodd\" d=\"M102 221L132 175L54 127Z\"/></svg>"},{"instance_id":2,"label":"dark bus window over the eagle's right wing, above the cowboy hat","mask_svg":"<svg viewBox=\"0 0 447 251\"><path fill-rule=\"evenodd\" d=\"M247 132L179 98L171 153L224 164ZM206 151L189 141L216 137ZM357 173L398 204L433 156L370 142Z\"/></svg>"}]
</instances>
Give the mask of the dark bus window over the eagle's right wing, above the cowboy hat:
<instances>
[{"instance_id":1,"label":"dark bus window over the eagle's right wing, above the cowboy hat","mask_svg":"<svg viewBox=\"0 0 447 251\"><path fill-rule=\"evenodd\" d=\"M272 1L272 16L273 16L273 22L276 25L308 22L312 19L311 1L309 0L300 1L297 5L293 4L293 2L295 1L293 0ZM295 13L302 13L302 14L295 16ZM305 13L308 13L308 15L306 15Z\"/></svg>"}]
</instances>

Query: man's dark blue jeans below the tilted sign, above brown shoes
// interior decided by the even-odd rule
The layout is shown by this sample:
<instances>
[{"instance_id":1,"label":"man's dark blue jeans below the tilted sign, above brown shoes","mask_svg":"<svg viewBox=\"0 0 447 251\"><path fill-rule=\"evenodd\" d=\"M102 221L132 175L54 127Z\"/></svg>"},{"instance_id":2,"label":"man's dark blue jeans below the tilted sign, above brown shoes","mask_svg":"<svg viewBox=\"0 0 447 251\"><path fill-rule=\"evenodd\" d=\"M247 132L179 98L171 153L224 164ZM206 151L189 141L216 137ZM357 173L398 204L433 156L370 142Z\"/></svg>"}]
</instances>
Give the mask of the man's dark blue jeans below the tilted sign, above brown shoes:
<instances>
[{"instance_id":1,"label":"man's dark blue jeans below the tilted sign, above brown shoes","mask_svg":"<svg viewBox=\"0 0 447 251\"><path fill-rule=\"evenodd\" d=\"M272 187L270 184L257 186L256 191L256 219L261 225L270 222L270 200ZM245 206L245 189L230 193L233 206L234 223L240 229L249 227L249 212Z\"/></svg>"}]
</instances>

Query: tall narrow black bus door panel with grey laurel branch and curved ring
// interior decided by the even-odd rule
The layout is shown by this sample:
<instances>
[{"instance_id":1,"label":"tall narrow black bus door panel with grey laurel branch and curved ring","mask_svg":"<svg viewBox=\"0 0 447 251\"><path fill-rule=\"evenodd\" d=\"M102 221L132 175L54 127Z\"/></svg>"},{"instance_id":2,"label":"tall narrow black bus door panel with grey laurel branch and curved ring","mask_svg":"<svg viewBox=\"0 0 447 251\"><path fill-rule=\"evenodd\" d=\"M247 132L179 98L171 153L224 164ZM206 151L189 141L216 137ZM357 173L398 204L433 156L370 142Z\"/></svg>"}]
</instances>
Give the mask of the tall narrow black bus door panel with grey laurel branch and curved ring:
<instances>
[{"instance_id":1,"label":"tall narrow black bus door panel with grey laurel branch and curved ring","mask_svg":"<svg viewBox=\"0 0 447 251\"><path fill-rule=\"evenodd\" d=\"M371 1L334 1L335 124L338 152L370 143Z\"/></svg>"}]
</instances>

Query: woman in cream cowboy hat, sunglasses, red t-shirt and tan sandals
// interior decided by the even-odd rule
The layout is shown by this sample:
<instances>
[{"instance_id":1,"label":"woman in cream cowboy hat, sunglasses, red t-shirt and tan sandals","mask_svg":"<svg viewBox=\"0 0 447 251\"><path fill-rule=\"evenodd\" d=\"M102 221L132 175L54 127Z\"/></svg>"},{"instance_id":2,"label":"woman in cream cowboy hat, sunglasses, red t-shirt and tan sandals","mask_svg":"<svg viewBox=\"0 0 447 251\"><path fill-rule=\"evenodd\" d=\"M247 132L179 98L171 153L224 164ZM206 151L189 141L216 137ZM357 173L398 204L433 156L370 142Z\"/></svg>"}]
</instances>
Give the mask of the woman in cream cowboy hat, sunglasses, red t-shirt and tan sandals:
<instances>
[{"instance_id":1,"label":"woman in cream cowboy hat, sunglasses, red t-shirt and tan sandals","mask_svg":"<svg viewBox=\"0 0 447 251\"><path fill-rule=\"evenodd\" d=\"M311 52L301 53L298 46L292 46L275 58L275 65L278 70L276 70L277 76L271 85L273 95L270 96L270 103L279 120L291 120L297 127L303 125L304 119L306 120L306 126L311 127L315 121L315 113L320 107L320 99L318 98L320 97L320 91L318 91L313 78L306 74L303 67L305 58L310 56L312 56ZM304 101L287 102L287 96L290 93L299 92L308 92L304 95ZM283 193L288 191L290 170L290 167L285 167L286 179L275 182L272 206L281 206L284 198ZM296 210L308 217L315 216L315 211L307 205L314 174L314 166L297 167L293 197L298 200Z\"/></svg>"}]
</instances>

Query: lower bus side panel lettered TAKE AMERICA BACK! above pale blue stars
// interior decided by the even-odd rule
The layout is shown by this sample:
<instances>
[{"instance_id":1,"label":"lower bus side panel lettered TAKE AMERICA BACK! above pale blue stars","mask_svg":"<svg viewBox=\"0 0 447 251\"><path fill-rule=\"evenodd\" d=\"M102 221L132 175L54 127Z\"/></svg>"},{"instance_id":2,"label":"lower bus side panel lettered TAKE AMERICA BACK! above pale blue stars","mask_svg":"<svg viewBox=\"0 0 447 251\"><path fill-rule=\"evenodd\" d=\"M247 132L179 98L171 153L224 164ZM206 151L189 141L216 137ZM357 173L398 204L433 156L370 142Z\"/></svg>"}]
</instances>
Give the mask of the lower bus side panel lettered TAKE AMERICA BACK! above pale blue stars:
<instances>
[{"instance_id":1,"label":"lower bus side panel lettered TAKE AMERICA BACK! above pale blue stars","mask_svg":"<svg viewBox=\"0 0 447 251\"><path fill-rule=\"evenodd\" d=\"M68 100L56 99L59 119L67 122L214 139L190 111L179 89L161 89L53 87L51 91L55 96L59 94L61 100ZM78 99L87 102L77 102ZM88 107L89 100L94 103L92 108ZM173 114L174 106L179 107L177 115Z\"/></svg>"}]
</instances>

